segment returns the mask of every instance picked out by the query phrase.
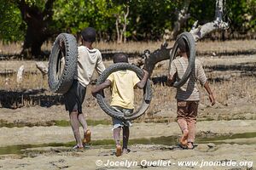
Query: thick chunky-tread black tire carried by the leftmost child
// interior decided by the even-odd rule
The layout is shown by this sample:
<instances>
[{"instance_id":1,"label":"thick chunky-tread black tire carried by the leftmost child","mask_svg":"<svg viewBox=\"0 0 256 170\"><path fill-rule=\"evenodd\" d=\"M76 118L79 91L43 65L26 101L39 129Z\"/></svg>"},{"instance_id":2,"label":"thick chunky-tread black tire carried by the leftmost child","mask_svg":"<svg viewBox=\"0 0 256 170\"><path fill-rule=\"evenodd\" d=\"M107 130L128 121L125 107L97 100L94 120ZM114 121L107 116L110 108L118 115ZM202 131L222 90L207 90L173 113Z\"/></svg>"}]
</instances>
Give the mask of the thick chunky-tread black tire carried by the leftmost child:
<instances>
[{"instance_id":1,"label":"thick chunky-tread black tire carried by the leftmost child","mask_svg":"<svg viewBox=\"0 0 256 170\"><path fill-rule=\"evenodd\" d=\"M60 41L65 44L65 55L61 54ZM61 69L61 56L65 58L65 65ZM76 38L67 33L56 37L49 55L48 84L49 89L57 94L65 94L73 83L78 67L78 45ZM61 71L61 72L59 72Z\"/></svg>"}]
</instances>

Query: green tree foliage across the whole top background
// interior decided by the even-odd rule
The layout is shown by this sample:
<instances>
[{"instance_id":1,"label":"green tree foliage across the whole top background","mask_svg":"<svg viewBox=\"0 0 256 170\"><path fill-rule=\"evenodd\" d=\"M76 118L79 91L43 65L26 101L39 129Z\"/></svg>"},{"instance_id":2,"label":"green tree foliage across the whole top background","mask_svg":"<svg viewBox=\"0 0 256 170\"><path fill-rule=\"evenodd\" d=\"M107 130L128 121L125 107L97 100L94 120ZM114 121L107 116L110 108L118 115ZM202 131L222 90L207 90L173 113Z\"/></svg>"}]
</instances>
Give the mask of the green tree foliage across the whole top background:
<instances>
[{"instance_id":1,"label":"green tree foliage across the whole top background","mask_svg":"<svg viewBox=\"0 0 256 170\"><path fill-rule=\"evenodd\" d=\"M26 23L21 19L17 2L21 0L0 0L0 39L3 41L23 40ZM43 11L47 0L25 0L30 7ZM202 25L213 20L215 0L190 1L187 25L199 20ZM256 31L256 0L225 0L225 21L230 20L232 31L241 33ZM183 8L181 0L55 0L53 20L47 24L52 32L78 34L87 26L95 27L100 38L116 39L115 21L125 14L129 6L125 36L134 40L160 39L165 31L172 31L177 20L176 11ZM119 18L124 23L124 18ZM55 37L55 34L51 34Z\"/></svg>"}]
</instances>

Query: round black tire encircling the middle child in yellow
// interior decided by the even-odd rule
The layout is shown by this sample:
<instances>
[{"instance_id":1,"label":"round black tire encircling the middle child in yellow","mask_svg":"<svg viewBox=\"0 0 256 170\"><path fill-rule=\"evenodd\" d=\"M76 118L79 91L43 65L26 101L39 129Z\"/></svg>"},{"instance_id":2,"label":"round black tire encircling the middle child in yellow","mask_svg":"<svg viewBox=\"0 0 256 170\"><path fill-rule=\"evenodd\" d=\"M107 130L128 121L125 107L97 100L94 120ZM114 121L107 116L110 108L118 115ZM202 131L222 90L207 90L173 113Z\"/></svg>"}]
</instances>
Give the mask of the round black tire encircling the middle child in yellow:
<instances>
[{"instance_id":1,"label":"round black tire encircling the middle child in yellow","mask_svg":"<svg viewBox=\"0 0 256 170\"><path fill-rule=\"evenodd\" d=\"M137 73L137 76L142 79L143 78L143 70L138 68L136 65L131 65L128 63L116 63L111 66L109 66L105 71L102 72L102 75L98 77L97 79L97 85L101 84L102 82L105 82L108 76L115 72L120 70L130 70ZM121 115L117 111L113 111L112 107L108 105L108 103L105 101L102 94L96 94L96 99L98 104L101 106L102 110L105 111L109 116L113 116L119 120L122 121L131 121L134 119L137 119L139 116L142 116L145 111L148 110L149 103L152 99L152 89L150 85L150 81L146 83L144 89L143 89L144 95L143 95L143 103L140 105L139 109L137 111L134 111L130 116Z\"/></svg>"}]
</instances>

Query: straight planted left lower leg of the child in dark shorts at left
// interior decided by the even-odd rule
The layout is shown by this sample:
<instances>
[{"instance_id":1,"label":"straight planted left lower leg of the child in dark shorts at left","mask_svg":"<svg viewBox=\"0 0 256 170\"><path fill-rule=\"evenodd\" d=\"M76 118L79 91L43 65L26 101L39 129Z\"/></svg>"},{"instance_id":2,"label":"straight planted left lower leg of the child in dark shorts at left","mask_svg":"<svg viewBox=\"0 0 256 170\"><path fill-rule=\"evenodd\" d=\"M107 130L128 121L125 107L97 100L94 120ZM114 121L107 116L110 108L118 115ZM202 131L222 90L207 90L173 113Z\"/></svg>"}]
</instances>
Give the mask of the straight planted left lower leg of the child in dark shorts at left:
<instances>
[{"instance_id":1,"label":"straight planted left lower leg of the child in dark shorts at left","mask_svg":"<svg viewBox=\"0 0 256 170\"><path fill-rule=\"evenodd\" d=\"M71 111L69 113L69 118L70 118L71 127L73 129L74 138L76 139L76 142L77 142L79 148L82 148L83 144L82 144L82 140L81 140L80 133L79 133L78 115L79 115L78 111Z\"/></svg>"}]
</instances>

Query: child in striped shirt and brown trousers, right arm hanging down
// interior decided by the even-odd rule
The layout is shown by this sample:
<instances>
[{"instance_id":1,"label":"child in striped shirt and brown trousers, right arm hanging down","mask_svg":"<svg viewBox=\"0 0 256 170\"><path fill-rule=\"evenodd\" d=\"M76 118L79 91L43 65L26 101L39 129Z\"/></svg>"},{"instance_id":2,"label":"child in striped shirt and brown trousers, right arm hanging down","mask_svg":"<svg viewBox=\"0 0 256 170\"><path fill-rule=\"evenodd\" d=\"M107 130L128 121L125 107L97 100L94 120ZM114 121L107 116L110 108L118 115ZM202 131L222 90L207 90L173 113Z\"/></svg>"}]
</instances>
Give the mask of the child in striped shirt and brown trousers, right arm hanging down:
<instances>
[{"instance_id":1,"label":"child in striped shirt and brown trousers, right arm hanging down","mask_svg":"<svg viewBox=\"0 0 256 170\"><path fill-rule=\"evenodd\" d=\"M178 42L178 54L180 57L174 59L171 64L171 69L167 79L167 85L171 86L172 82L180 80L188 65L189 65L189 47L183 38ZM209 94L211 104L215 104L215 99L212 90L207 82L205 71L202 68L201 62L195 59L195 69L189 80L180 88L177 88L177 123L183 133L180 139L180 144L183 148L194 149L195 142L195 124L198 111L198 104L200 101L199 90L197 87L197 80L201 86L206 88Z\"/></svg>"}]
</instances>

